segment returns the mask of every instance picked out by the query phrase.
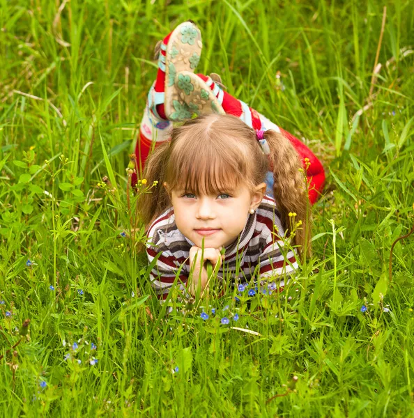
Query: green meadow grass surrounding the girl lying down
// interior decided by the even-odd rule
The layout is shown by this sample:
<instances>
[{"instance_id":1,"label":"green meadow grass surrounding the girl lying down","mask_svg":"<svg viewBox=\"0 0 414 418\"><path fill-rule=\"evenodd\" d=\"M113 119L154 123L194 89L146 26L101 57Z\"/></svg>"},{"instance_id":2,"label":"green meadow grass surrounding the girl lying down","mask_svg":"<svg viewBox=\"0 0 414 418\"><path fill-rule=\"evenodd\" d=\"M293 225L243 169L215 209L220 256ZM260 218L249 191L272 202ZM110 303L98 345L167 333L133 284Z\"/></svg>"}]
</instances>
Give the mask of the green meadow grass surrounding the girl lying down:
<instances>
[{"instance_id":1,"label":"green meadow grass surrounding the girl lying down","mask_svg":"<svg viewBox=\"0 0 414 418\"><path fill-rule=\"evenodd\" d=\"M414 223L414 3L388 6L371 98L375 1L59 3L0 0L0 414L413 417L413 235L394 246L392 282L388 263ZM142 231L120 235L152 50L188 18L200 70L304 138L328 175L292 299L249 311L227 294L206 323L164 318ZM240 319L220 325L227 304ZM64 360L75 341L80 365Z\"/></svg>"}]
</instances>

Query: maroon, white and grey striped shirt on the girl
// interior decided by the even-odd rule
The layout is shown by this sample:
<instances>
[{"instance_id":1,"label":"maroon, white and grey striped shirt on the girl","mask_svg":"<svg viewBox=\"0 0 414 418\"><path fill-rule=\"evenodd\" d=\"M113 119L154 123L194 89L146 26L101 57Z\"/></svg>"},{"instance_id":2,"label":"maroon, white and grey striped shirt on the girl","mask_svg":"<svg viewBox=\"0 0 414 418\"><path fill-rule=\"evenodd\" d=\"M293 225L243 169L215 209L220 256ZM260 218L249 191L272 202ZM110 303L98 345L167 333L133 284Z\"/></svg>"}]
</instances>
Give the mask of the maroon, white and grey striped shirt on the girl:
<instances>
[{"instance_id":1,"label":"maroon, white and grey striped shirt on the girl","mask_svg":"<svg viewBox=\"0 0 414 418\"><path fill-rule=\"evenodd\" d=\"M217 277L245 283L258 273L261 278L272 276L279 279L291 274L298 264L293 250L284 254L284 242L280 238L283 236L275 200L264 196L256 212L247 217L238 239L225 248L225 259ZM174 208L165 210L155 219L147 237L148 261L154 264L150 273L151 285L158 297L167 297L176 278L178 286L184 290L190 274L190 248L194 243L178 230ZM283 286L282 282L280 285Z\"/></svg>"}]
</instances>

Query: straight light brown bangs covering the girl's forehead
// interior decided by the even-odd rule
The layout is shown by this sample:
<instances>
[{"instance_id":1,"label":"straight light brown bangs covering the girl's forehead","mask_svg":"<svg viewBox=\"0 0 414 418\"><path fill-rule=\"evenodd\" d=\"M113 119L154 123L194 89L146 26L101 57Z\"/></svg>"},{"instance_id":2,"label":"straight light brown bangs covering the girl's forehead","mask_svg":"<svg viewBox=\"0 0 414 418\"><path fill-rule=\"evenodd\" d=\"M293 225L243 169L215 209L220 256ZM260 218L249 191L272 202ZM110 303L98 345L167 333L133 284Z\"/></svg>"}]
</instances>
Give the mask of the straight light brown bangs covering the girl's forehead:
<instances>
[{"instance_id":1,"label":"straight light brown bangs covering the girl's forehead","mask_svg":"<svg viewBox=\"0 0 414 418\"><path fill-rule=\"evenodd\" d=\"M172 189L198 195L234 194L248 177L241 150L237 156L211 145L207 149L194 145L183 148L176 149L178 155L171 158L174 167L167 169L167 183Z\"/></svg>"}]
</instances>

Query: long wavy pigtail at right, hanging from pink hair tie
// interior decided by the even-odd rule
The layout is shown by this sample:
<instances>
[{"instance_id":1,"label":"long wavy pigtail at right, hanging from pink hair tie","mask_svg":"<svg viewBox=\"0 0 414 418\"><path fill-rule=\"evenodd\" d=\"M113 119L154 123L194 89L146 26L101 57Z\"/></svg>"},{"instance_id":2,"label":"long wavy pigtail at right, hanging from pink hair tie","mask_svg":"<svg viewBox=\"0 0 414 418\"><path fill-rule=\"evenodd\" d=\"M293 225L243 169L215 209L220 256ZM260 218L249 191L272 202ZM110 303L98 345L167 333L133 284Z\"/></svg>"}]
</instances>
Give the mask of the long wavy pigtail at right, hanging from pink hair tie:
<instances>
[{"instance_id":1,"label":"long wavy pigtail at right, hanging from pink hair tie","mask_svg":"<svg viewBox=\"0 0 414 418\"><path fill-rule=\"evenodd\" d=\"M282 226L289 236L293 223L302 222L296 229L293 244L300 254L311 254L311 231L305 174L300 157L283 134L267 130L263 134L270 148L270 164L273 167L273 194L277 201ZM289 213L296 213L295 217Z\"/></svg>"}]
</instances>

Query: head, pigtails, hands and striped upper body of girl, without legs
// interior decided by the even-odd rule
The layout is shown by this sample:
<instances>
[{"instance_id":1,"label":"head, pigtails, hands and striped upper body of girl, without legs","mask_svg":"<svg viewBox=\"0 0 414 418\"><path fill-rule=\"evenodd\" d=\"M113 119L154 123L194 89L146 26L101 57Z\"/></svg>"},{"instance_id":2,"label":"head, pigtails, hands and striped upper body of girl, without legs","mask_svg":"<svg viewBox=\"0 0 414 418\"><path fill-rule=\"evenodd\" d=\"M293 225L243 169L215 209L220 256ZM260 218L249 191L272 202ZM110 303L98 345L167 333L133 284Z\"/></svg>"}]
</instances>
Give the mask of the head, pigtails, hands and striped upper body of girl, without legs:
<instances>
[{"instance_id":1,"label":"head, pigtails, hands and striped upper body of girl, without legs","mask_svg":"<svg viewBox=\"0 0 414 418\"><path fill-rule=\"evenodd\" d=\"M277 203L265 196L269 165ZM144 178L159 182L140 197L139 213L148 225L148 261L156 258L151 282L162 299L174 281L183 293L205 291L205 261L235 283L289 275L297 267L296 252L282 240L293 229L289 212L298 226L293 245L299 253L310 249L306 179L279 132L256 131L231 115L190 119L148 156Z\"/></svg>"}]
</instances>

